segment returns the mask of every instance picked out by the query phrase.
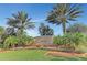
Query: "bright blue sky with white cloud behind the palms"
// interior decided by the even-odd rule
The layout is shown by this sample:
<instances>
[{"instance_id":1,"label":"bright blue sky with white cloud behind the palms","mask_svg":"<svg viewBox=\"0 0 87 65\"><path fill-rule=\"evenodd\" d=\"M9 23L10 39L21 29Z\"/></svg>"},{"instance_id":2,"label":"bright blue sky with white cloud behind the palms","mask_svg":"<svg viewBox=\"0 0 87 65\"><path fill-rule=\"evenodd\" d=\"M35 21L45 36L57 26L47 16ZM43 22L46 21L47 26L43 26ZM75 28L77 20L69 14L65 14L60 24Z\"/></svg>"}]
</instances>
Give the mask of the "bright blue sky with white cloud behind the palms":
<instances>
[{"instance_id":1,"label":"bright blue sky with white cloud behind the palms","mask_svg":"<svg viewBox=\"0 0 87 65\"><path fill-rule=\"evenodd\" d=\"M7 26L7 19L11 17L12 13L17 13L18 11L25 11L29 17L32 18L32 21L35 22L35 29L33 30L26 30L29 35L32 36L39 36L39 25L41 22L48 24L52 29L54 29L54 34L58 35L62 34L62 26L61 25L53 25L51 23L47 23L45 21L48 12L53 9L54 4L51 3L36 3L36 4L23 4L23 3L19 3L19 4L0 4L0 26ZM81 17L79 19L77 19L77 21L69 21L72 22L70 24L75 23L75 22L79 22L79 23L85 23L87 24L87 4L81 4L81 10L84 11L84 13L81 14ZM68 25L68 24L67 24Z\"/></svg>"}]
</instances>

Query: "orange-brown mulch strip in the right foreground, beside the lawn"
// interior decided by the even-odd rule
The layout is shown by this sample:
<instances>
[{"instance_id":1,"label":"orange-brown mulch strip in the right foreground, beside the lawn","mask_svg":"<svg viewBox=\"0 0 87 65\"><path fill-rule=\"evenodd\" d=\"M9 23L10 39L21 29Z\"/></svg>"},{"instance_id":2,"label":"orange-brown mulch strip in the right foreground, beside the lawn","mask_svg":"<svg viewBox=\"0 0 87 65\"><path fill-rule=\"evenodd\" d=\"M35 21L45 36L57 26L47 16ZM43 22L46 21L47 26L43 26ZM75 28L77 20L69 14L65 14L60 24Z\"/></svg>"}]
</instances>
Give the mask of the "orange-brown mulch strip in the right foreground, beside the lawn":
<instances>
[{"instance_id":1,"label":"orange-brown mulch strip in the right foreground, beside the lawn","mask_svg":"<svg viewBox=\"0 0 87 65\"><path fill-rule=\"evenodd\" d=\"M87 56L87 53L67 53L67 52L56 52L56 51L50 51L46 53L46 55L52 55L52 56L64 56L64 57L85 57Z\"/></svg>"}]
</instances>

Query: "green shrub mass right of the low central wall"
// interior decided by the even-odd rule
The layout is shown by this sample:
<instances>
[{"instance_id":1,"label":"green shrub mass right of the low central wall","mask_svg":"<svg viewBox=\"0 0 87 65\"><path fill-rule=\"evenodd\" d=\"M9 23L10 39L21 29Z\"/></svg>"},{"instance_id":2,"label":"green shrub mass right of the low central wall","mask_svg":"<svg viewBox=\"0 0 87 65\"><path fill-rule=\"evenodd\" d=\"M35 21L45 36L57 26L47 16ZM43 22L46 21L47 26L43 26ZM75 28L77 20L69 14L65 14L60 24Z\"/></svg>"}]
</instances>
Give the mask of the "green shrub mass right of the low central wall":
<instances>
[{"instance_id":1,"label":"green shrub mass right of the low central wall","mask_svg":"<svg viewBox=\"0 0 87 65\"><path fill-rule=\"evenodd\" d=\"M54 36L54 44L64 45L62 50L65 51L83 51L87 40L83 33L65 34L63 36ZM81 48L81 50L80 50Z\"/></svg>"}]
</instances>

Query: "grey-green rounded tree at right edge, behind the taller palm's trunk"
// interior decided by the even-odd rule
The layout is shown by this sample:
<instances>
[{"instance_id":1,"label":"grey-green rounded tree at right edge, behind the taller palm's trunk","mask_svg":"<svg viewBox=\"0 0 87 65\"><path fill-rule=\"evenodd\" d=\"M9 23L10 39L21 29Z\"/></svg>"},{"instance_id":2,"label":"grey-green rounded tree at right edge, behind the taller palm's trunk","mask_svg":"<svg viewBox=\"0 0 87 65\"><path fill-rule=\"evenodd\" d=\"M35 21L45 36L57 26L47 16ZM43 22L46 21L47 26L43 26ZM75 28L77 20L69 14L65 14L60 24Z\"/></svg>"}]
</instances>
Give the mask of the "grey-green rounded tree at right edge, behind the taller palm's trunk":
<instances>
[{"instance_id":1,"label":"grey-green rounded tree at right edge, behind the taller palm's trunk","mask_svg":"<svg viewBox=\"0 0 87 65\"><path fill-rule=\"evenodd\" d=\"M87 25L83 24L83 23L74 23L73 25L68 26L66 29L67 33L85 33L87 34Z\"/></svg>"}]
</instances>

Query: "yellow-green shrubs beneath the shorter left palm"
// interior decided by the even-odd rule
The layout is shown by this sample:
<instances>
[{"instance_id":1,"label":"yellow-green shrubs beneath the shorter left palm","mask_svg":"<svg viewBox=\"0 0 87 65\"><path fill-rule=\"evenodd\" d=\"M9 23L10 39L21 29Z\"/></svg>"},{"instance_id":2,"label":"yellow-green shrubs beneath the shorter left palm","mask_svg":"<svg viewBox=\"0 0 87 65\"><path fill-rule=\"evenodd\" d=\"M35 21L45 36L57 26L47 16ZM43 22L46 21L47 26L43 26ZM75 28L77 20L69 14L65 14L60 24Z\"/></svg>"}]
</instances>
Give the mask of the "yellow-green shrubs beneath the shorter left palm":
<instances>
[{"instance_id":1,"label":"yellow-green shrubs beneath the shorter left palm","mask_svg":"<svg viewBox=\"0 0 87 65\"><path fill-rule=\"evenodd\" d=\"M8 36L4 39L3 47L15 47L15 46L24 46L33 42L33 37L22 34L21 36Z\"/></svg>"}]
</instances>

